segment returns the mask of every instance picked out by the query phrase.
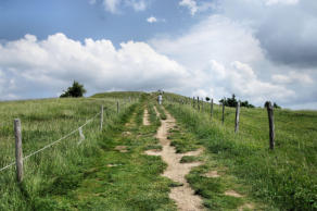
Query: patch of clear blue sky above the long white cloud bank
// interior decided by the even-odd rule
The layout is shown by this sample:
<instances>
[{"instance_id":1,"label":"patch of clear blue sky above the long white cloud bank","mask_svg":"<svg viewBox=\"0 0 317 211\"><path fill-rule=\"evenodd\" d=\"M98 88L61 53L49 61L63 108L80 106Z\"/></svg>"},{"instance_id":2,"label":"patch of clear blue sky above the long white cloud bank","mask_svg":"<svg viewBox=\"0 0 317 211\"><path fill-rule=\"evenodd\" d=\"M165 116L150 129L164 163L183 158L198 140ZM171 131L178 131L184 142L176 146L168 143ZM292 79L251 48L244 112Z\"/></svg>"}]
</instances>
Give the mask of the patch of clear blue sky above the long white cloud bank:
<instances>
[{"instance_id":1,"label":"patch of clear blue sky above the long white cloud bank","mask_svg":"<svg viewBox=\"0 0 317 211\"><path fill-rule=\"evenodd\" d=\"M15 40L26 34L46 39L63 33L76 40L110 39L116 46L123 41L142 41L160 34L180 34L200 17L192 17L178 0L150 0L147 9L135 11L123 3L116 13L105 11L102 1L89 0L2 0L0 2L1 39ZM150 24L147 18L160 18Z\"/></svg>"}]
</instances>

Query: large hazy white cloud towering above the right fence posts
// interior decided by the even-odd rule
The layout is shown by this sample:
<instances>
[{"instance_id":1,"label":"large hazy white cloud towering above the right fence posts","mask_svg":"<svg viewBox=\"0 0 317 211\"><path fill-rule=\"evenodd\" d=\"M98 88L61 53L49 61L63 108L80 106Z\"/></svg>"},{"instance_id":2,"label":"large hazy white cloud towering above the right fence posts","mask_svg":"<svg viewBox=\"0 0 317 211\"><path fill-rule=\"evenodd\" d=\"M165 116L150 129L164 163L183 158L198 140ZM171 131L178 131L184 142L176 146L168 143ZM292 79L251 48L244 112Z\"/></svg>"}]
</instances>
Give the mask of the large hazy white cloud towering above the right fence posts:
<instances>
[{"instance_id":1,"label":"large hazy white cloud towering above the right fence posts","mask_svg":"<svg viewBox=\"0 0 317 211\"><path fill-rule=\"evenodd\" d=\"M150 44L188 67L194 80L192 95L220 99L236 94L257 105L266 100L290 105L312 99L312 91L306 90L307 83L314 87L312 75L300 76L293 69L275 65L250 25L224 15L211 15L182 36ZM281 83L279 75L288 77L288 83Z\"/></svg>"}]
</instances>

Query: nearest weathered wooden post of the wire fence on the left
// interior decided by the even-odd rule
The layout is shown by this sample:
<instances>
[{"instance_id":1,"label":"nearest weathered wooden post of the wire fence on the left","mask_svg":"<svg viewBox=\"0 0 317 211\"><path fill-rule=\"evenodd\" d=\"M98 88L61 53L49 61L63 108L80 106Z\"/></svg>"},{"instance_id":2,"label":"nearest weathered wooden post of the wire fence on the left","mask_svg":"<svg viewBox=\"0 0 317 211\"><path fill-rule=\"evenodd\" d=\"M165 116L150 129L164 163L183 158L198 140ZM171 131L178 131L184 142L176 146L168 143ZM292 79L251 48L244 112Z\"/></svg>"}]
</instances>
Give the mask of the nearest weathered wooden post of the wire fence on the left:
<instances>
[{"instance_id":1,"label":"nearest weathered wooden post of the wire fence on the left","mask_svg":"<svg viewBox=\"0 0 317 211\"><path fill-rule=\"evenodd\" d=\"M16 178L17 182L23 181L23 151L22 151L22 134L21 121L14 120L14 134L15 134L15 163L16 163Z\"/></svg>"}]
</instances>

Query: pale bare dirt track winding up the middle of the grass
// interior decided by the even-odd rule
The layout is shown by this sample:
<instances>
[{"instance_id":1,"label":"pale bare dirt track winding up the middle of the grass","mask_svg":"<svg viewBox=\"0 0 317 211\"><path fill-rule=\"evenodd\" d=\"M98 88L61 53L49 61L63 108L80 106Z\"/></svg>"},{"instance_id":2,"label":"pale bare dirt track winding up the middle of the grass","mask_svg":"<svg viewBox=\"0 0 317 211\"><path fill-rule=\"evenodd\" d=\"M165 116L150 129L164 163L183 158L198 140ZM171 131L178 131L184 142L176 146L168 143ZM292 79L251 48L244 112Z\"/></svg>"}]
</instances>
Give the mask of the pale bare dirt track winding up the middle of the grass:
<instances>
[{"instance_id":1,"label":"pale bare dirt track winding up the middle of the grass","mask_svg":"<svg viewBox=\"0 0 317 211\"><path fill-rule=\"evenodd\" d=\"M202 163L180 163L180 159L183 156L198 156L201 153L201 150L182 154L176 153L175 148L170 146L170 141L167 139L168 129L175 126L176 121L167 111L165 111L165 113L167 119L165 121L162 120L162 125L156 134L156 138L160 140L163 150L161 152L150 150L147 151L147 153L151 156L161 156L162 159L167 163L167 169L163 175L175 182L183 184L182 186L174 187L169 194L169 198L176 201L178 210L203 210L202 199L198 195L194 195L193 189L191 189L190 185L185 178L185 176L192 167L199 166Z\"/></svg>"}]
</instances>

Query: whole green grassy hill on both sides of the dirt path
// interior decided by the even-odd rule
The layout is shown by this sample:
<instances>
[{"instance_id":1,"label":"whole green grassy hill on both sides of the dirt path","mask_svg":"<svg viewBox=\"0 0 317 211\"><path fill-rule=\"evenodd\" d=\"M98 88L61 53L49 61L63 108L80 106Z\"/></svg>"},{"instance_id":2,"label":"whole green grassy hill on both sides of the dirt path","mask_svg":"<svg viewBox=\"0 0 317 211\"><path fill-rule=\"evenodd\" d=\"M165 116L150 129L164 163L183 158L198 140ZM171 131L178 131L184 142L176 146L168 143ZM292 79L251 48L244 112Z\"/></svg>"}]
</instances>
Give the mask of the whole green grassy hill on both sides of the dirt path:
<instances>
[{"instance_id":1,"label":"whole green grassy hill on both sides of the dirt path","mask_svg":"<svg viewBox=\"0 0 317 211\"><path fill-rule=\"evenodd\" d=\"M0 172L0 210L176 210L168 199L177 186L161 176L166 164L143 154L160 149L153 138L160 122L153 105L157 94L119 91L90 98L0 102L0 169L14 162L13 120L20 117L24 156L76 131L61 142L24 161L25 179L17 184L15 166ZM129 97L131 100L129 100ZM210 210L237 210L253 201L258 210L317 209L317 112L275 110L276 149L268 149L268 120L264 109L241 109L240 131L234 129L234 109L204 102L198 111L191 100L164 95L164 107L176 117L170 132L178 152L203 146L204 161L187 176ZM121 112L116 113L119 101ZM103 131L100 108L104 105ZM151 126L142 126L144 108ZM164 109L156 104L162 120ZM130 134L127 133L130 131ZM125 145L127 153L115 148ZM113 167L114 166L114 167ZM218 171L219 178L202 176ZM224 196L233 188L245 198Z\"/></svg>"}]
</instances>

